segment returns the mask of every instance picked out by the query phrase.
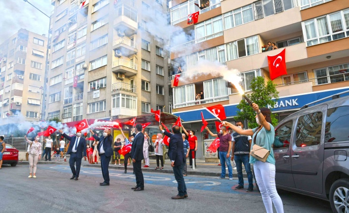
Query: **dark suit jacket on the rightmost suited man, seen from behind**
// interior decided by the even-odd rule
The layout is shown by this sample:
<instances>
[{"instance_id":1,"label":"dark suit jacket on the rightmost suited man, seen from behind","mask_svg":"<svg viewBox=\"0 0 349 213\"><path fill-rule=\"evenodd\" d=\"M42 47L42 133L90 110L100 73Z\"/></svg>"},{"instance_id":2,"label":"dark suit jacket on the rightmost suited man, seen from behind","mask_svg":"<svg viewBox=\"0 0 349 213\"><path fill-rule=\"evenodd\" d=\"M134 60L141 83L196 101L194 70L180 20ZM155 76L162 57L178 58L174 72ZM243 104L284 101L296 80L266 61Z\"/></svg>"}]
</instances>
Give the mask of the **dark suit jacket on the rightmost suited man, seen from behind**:
<instances>
[{"instance_id":1,"label":"dark suit jacket on the rightmost suited man, seen from behind","mask_svg":"<svg viewBox=\"0 0 349 213\"><path fill-rule=\"evenodd\" d=\"M185 162L183 138L182 134L172 134L164 131L164 134L170 138L169 157L171 161L175 161L175 167L182 165Z\"/></svg>"}]
</instances>

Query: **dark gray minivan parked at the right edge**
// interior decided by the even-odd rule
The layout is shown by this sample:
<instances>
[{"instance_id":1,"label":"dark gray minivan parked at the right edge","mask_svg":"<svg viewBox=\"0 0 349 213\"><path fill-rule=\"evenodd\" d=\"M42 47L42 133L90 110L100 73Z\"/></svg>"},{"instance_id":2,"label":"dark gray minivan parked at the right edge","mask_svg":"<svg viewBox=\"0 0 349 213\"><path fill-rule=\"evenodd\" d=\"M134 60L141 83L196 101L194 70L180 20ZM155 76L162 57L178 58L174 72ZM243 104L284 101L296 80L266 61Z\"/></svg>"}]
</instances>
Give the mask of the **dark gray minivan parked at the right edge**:
<instances>
[{"instance_id":1,"label":"dark gray minivan parked at the right edge","mask_svg":"<svg viewBox=\"0 0 349 213\"><path fill-rule=\"evenodd\" d=\"M307 104L277 125L275 181L278 188L330 201L334 213L349 213L349 96L340 94Z\"/></svg>"}]
</instances>

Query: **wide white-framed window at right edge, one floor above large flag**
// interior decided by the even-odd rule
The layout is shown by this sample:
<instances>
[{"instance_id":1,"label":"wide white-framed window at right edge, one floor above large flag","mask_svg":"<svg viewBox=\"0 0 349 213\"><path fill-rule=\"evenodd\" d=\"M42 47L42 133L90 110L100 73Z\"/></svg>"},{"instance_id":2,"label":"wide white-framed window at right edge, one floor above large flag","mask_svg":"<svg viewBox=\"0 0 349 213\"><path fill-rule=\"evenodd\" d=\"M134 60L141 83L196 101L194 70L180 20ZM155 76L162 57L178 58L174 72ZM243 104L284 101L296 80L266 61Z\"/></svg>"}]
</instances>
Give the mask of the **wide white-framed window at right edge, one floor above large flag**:
<instances>
[{"instance_id":1,"label":"wide white-framed window at right edge, one floor above large flag","mask_svg":"<svg viewBox=\"0 0 349 213\"><path fill-rule=\"evenodd\" d=\"M344 26L346 25L346 26ZM306 45L330 42L349 37L349 10L327 14L302 22Z\"/></svg>"}]
</instances>

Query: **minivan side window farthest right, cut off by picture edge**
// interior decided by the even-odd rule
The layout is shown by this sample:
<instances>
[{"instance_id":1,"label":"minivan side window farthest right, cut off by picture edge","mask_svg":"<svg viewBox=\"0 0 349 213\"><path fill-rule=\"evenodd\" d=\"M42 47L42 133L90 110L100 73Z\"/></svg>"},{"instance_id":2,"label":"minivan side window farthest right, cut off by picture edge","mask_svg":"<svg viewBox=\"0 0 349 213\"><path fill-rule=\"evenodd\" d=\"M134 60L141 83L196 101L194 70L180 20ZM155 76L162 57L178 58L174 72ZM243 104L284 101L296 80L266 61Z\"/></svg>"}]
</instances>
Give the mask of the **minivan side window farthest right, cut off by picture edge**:
<instances>
[{"instance_id":1,"label":"minivan side window farthest right, cut off by picture edge","mask_svg":"<svg viewBox=\"0 0 349 213\"><path fill-rule=\"evenodd\" d=\"M325 142L349 140L349 106L335 107L327 110Z\"/></svg>"}]
</instances>

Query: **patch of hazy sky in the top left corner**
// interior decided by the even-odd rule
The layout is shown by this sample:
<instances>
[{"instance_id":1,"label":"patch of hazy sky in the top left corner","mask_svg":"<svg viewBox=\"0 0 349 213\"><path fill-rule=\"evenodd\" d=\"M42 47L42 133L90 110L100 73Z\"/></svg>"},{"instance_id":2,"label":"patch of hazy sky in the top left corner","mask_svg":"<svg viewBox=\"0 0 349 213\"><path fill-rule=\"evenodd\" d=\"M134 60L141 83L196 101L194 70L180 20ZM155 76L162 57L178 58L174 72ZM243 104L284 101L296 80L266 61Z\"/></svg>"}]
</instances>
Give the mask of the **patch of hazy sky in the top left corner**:
<instances>
[{"instance_id":1,"label":"patch of hazy sky in the top left corner","mask_svg":"<svg viewBox=\"0 0 349 213\"><path fill-rule=\"evenodd\" d=\"M28 0L48 16L54 6L51 0ZM0 43L24 28L37 34L48 34L49 18L24 0L0 0Z\"/></svg>"}]
</instances>

